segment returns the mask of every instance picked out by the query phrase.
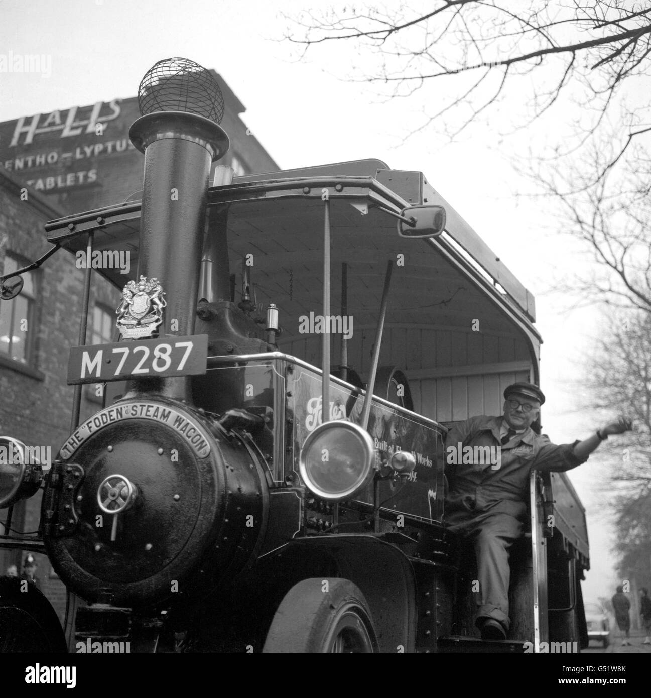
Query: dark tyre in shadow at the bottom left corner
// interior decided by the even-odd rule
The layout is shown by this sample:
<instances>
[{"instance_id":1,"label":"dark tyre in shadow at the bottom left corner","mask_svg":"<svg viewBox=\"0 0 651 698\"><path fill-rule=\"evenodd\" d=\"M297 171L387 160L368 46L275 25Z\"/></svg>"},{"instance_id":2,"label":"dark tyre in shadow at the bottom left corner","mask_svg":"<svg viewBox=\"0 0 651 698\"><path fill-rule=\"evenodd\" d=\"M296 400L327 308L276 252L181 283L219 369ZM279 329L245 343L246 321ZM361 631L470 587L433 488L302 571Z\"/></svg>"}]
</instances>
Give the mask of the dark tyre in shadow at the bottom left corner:
<instances>
[{"instance_id":1,"label":"dark tyre in shadow at the bottom left corner","mask_svg":"<svg viewBox=\"0 0 651 698\"><path fill-rule=\"evenodd\" d=\"M67 651L61 623L47 598L31 582L0 577L0 653Z\"/></svg>"}]
</instances>

